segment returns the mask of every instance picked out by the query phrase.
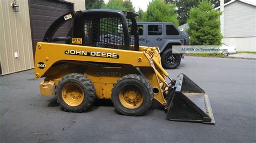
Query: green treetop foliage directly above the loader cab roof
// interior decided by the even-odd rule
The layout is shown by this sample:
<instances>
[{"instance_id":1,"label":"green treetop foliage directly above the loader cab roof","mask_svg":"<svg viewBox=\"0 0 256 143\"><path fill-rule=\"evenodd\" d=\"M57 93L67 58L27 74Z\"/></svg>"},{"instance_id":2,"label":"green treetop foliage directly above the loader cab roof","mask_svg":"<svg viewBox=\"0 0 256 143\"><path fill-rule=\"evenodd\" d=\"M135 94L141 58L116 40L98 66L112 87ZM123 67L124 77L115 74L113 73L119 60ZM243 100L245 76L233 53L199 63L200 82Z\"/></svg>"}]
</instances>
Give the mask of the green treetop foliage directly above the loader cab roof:
<instances>
[{"instance_id":1,"label":"green treetop foliage directly above the loader cab roof","mask_svg":"<svg viewBox=\"0 0 256 143\"><path fill-rule=\"evenodd\" d=\"M103 9L113 9L113 10L122 10L122 11L131 11L134 12L134 7L132 2L122 1L122 0L110 0L107 4L103 4Z\"/></svg>"}]
</instances>

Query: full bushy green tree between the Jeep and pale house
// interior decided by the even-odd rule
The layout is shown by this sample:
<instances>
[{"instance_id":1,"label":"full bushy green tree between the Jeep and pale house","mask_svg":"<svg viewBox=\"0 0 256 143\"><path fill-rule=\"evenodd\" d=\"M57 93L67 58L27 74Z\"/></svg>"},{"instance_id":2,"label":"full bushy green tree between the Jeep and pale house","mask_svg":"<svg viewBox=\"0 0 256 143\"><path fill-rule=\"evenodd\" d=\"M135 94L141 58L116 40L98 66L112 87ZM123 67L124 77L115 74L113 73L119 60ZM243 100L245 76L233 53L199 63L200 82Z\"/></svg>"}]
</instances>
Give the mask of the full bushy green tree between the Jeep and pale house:
<instances>
[{"instance_id":1,"label":"full bushy green tree between the Jeep and pale house","mask_svg":"<svg viewBox=\"0 0 256 143\"><path fill-rule=\"evenodd\" d=\"M191 45L221 45L220 15L211 2L200 2L198 8L190 10L187 23Z\"/></svg>"}]
</instances>

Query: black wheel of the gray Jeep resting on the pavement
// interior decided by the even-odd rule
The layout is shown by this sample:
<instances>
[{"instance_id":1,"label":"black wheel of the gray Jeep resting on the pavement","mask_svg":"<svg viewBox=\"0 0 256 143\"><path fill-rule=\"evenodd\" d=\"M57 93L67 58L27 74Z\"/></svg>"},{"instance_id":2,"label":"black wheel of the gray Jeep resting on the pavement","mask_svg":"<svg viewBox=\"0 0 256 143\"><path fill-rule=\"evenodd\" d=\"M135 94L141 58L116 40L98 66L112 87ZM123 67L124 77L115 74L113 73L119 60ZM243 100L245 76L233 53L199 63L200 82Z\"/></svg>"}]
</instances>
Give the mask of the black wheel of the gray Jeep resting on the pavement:
<instances>
[{"instance_id":1,"label":"black wheel of the gray Jeep resting on the pavement","mask_svg":"<svg viewBox=\"0 0 256 143\"><path fill-rule=\"evenodd\" d=\"M181 61L181 54L173 54L171 48L167 48L161 53L161 63L164 69L177 68Z\"/></svg>"}]
</instances>

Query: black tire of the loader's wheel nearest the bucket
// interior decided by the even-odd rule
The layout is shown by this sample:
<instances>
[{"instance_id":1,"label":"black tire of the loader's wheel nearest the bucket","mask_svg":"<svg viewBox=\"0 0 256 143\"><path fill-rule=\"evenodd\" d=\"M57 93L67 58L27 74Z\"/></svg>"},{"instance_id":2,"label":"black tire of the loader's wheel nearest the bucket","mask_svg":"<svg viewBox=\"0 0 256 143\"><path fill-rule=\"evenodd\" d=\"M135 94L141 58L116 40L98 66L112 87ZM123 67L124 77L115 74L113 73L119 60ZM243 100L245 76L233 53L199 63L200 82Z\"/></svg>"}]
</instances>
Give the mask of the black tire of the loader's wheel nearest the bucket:
<instances>
[{"instance_id":1,"label":"black tire of the loader's wheel nearest the bucket","mask_svg":"<svg viewBox=\"0 0 256 143\"><path fill-rule=\"evenodd\" d=\"M122 90L125 88L130 89L129 86L134 86L141 91L140 95L143 96L143 101L141 105L138 106L138 108L126 108L120 102L119 94L121 94ZM123 115L139 116L143 115L143 113L145 113L150 108L153 100L153 89L150 82L145 77L136 74L125 75L120 78L116 84L114 84L111 98L116 110Z\"/></svg>"}]
</instances>

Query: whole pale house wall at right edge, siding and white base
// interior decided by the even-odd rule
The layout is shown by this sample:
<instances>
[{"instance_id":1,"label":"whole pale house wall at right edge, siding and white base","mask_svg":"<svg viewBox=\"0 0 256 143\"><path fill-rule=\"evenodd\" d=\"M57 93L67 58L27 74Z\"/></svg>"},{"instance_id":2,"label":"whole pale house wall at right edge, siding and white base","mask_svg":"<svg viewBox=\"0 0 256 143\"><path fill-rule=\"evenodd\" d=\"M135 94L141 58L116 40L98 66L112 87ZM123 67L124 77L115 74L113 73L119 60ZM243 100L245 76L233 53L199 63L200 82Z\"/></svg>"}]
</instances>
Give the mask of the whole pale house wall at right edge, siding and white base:
<instances>
[{"instance_id":1,"label":"whole pale house wall at right edge, siding and white base","mask_svg":"<svg viewBox=\"0 0 256 143\"><path fill-rule=\"evenodd\" d=\"M224 8L224 43L237 51L255 51L256 6L235 1Z\"/></svg>"}]
</instances>

